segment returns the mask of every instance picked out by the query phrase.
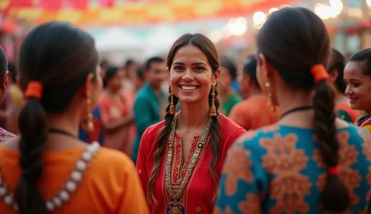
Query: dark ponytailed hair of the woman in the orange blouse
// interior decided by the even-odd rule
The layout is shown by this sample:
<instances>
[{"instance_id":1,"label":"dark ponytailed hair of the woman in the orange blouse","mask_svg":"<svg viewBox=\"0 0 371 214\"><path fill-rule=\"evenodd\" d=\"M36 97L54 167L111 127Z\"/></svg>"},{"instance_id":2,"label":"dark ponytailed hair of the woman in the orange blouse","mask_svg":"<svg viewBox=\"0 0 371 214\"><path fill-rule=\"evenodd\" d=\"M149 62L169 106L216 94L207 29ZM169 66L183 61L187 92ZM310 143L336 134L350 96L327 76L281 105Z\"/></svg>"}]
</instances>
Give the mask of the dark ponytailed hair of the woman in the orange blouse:
<instances>
[{"instance_id":1,"label":"dark ponytailed hair of the woman in the orange blouse","mask_svg":"<svg viewBox=\"0 0 371 214\"><path fill-rule=\"evenodd\" d=\"M30 96L19 115L21 177L15 202L22 214L46 213L36 187L42 174L42 152L48 132L47 114L69 109L87 76L96 74L98 53L87 33L67 23L47 23L30 32L22 43L18 66L23 89L42 85L41 97ZM40 88L39 88L40 89Z\"/></svg>"}]
</instances>

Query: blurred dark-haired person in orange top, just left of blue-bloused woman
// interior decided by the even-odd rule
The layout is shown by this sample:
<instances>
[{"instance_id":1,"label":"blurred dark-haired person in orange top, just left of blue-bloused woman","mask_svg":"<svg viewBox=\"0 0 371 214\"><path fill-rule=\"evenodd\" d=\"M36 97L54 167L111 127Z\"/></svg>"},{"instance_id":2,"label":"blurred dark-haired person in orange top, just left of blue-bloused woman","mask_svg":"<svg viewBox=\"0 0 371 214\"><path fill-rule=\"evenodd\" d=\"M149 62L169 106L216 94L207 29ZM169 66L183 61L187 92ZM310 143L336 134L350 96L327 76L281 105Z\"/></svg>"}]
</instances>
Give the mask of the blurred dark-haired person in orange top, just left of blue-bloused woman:
<instances>
[{"instance_id":1,"label":"blurred dark-haired person in orange top, just left of blue-bloused woman","mask_svg":"<svg viewBox=\"0 0 371 214\"><path fill-rule=\"evenodd\" d=\"M234 105L229 114L229 118L246 131L274 124L280 118L279 111L272 110L272 104L259 86L256 69L257 58L250 56L243 66L240 79L241 92L248 98Z\"/></svg>"}]
</instances>

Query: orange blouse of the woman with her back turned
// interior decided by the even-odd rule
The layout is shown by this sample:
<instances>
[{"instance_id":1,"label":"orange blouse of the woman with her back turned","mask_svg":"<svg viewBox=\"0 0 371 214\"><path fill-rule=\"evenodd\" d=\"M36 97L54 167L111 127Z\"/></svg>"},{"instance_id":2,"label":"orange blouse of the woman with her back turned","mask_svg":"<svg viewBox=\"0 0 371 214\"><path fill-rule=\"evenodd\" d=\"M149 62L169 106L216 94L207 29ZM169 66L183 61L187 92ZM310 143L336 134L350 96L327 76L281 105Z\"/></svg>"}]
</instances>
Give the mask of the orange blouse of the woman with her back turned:
<instances>
[{"instance_id":1,"label":"orange blouse of the woman with her back turned","mask_svg":"<svg viewBox=\"0 0 371 214\"><path fill-rule=\"evenodd\" d=\"M43 154L43 175L37 185L44 198L52 198L60 191L85 149L78 147ZM0 144L0 157L2 181L13 193L21 175L19 153ZM17 212L0 197L0 213ZM133 162L118 151L100 148L70 201L53 213L148 214L149 209Z\"/></svg>"}]
</instances>

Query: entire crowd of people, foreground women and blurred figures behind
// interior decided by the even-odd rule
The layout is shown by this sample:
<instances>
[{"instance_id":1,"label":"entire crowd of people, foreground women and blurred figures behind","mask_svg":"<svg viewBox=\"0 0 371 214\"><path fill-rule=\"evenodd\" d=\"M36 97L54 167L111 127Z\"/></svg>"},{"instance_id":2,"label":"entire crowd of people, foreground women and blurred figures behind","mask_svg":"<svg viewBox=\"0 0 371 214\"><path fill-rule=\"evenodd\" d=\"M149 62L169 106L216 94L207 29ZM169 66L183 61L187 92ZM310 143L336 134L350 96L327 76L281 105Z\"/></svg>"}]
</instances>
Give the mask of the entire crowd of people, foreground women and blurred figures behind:
<instances>
[{"instance_id":1,"label":"entire crowd of people, foreground women and blurred figures behind","mask_svg":"<svg viewBox=\"0 0 371 214\"><path fill-rule=\"evenodd\" d=\"M0 213L367 213L371 49L283 8L257 50L188 33L113 66L58 22L0 48Z\"/></svg>"}]
</instances>

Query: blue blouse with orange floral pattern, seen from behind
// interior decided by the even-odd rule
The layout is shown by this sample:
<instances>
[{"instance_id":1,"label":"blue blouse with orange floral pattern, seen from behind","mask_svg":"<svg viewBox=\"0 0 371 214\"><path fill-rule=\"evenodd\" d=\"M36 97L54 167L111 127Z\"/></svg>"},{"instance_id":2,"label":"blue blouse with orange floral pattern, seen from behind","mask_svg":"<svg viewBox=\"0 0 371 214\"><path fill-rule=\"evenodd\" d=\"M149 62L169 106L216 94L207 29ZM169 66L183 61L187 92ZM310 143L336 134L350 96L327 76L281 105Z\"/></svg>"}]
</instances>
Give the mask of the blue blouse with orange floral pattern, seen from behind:
<instances>
[{"instance_id":1,"label":"blue blouse with orange floral pattern, seen from behind","mask_svg":"<svg viewBox=\"0 0 371 214\"><path fill-rule=\"evenodd\" d=\"M351 206L366 213L371 196L371 137L350 125L338 130L340 180ZM242 136L223 167L216 213L324 213L326 171L313 129L269 126Z\"/></svg>"}]
</instances>

